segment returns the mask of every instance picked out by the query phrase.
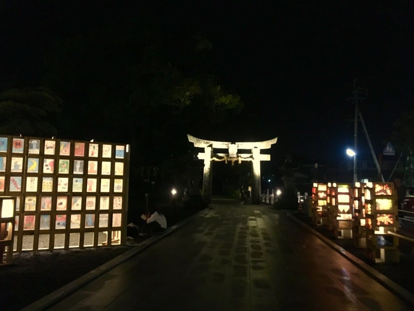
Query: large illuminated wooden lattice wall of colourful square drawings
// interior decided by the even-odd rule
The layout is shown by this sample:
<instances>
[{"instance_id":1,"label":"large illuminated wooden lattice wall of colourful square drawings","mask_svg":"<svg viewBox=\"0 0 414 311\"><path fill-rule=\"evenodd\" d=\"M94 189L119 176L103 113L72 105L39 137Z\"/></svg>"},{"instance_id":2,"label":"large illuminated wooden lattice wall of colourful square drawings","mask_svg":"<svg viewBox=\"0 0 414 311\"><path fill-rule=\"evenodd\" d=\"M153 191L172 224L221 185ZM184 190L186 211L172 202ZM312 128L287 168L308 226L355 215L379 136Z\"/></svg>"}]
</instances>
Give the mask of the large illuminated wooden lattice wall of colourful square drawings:
<instances>
[{"instance_id":1,"label":"large illuminated wooden lattice wall of colourful square drawings","mask_svg":"<svg viewBox=\"0 0 414 311\"><path fill-rule=\"evenodd\" d=\"M125 242L128 173L129 145L0 136L0 196L17 197L1 212L14 212L13 250Z\"/></svg>"}]
</instances>

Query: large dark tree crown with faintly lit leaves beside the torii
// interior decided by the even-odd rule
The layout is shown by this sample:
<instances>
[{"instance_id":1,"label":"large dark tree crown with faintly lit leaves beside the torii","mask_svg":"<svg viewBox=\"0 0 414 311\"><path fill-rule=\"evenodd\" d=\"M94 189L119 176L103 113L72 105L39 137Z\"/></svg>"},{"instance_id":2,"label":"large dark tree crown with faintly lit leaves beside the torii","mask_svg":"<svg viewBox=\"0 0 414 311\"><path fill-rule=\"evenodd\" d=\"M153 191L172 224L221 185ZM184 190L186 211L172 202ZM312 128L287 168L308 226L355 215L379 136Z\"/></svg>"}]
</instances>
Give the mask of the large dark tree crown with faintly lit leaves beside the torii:
<instances>
[{"instance_id":1,"label":"large dark tree crown with faintly lit leaves beside the torii","mask_svg":"<svg viewBox=\"0 0 414 311\"><path fill-rule=\"evenodd\" d=\"M58 42L46 81L64 98L61 132L128 141L151 162L171 153L243 107L209 72L211 48L136 20Z\"/></svg>"}]
</instances>

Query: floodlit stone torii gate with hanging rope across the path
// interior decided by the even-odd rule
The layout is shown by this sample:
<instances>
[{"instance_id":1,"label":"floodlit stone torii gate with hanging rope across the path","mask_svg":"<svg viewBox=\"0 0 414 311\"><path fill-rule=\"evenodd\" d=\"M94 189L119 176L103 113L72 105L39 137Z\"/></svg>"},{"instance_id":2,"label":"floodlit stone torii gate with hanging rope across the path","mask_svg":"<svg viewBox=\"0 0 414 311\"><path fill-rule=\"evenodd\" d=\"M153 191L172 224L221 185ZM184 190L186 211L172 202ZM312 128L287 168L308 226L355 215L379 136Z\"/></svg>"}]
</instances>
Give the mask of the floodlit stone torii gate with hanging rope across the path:
<instances>
[{"instance_id":1,"label":"floodlit stone torii gate with hanging rope across the path","mask_svg":"<svg viewBox=\"0 0 414 311\"><path fill-rule=\"evenodd\" d=\"M197 138L187 134L188 141L194 143L194 147L204 148L204 153L199 153L200 160L204 160L203 171L203 190L204 196L210 197L212 190L212 169L211 161L225 161L241 163L241 161L251 161L253 166L253 185L251 191L252 204L260 204L260 161L270 161L270 155L261 155L261 149L269 149L271 145L275 144L278 138L273 138L265 141L255 142L228 142L228 141L214 141ZM228 154L214 154L213 149L228 149ZM237 150L251 150L251 154L238 154Z\"/></svg>"}]
</instances>

